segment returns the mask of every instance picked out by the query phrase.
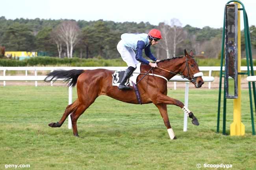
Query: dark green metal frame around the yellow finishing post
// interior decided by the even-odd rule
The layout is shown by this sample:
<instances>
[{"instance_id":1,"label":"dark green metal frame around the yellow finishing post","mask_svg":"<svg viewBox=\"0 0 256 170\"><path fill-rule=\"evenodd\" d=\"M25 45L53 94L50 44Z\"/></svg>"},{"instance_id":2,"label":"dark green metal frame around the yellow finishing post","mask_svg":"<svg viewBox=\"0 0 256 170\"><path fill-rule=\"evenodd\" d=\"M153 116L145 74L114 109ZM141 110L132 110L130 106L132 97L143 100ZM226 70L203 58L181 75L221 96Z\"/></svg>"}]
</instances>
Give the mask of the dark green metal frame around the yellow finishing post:
<instances>
[{"instance_id":1,"label":"dark green metal frame around the yellow finishing post","mask_svg":"<svg viewBox=\"0 0 256 170\"><path fill-rule=\"evenodd\" d=\"M248 17L247 13L245 11L245 7L242 2L239 0L230 0L227 2L229 4L230 2L237 2L242 5L243 8L240 8L238 10L243 10L243 20L244 20L244 29L245 29L245 51L246 51L246 61L247 61L247 73L238 73L240 75L247 75L250 76L254 75L253 71L253 62L252 62L252 47L250 43L250 30L249 30L249 24L248 24ZM224 84L226 81L226 72L223 72L223 56L224 56L224 42L225 42L225 19L226 19L226 10L224 10L224 21L223 21L223 33L222 33L222 47L221 47L221 71L220 71L220 80L219 80L219 101L218 101L218 115L217 115L217 133L219 133L219 123L220 123L220 110L221 110L221 85L222 85L222 77L224 77ZM250 68L250 69L249 69ZM223 76L224 75L224 76ZM250 116L252 121L252 135L255 135L255 129L254 129L254 118L253 118L253 107L252 107L252 91L251 91L251 82L248 82L249 86L249 97L250 97ZM255 90L255 82L252 82L252 89L253 89L253 95L254 95L254 107L256 108L256 90ZM224 86L224 95L223 95L223 135L226 135L226 88Z\"/></svg>"}]
</instances>

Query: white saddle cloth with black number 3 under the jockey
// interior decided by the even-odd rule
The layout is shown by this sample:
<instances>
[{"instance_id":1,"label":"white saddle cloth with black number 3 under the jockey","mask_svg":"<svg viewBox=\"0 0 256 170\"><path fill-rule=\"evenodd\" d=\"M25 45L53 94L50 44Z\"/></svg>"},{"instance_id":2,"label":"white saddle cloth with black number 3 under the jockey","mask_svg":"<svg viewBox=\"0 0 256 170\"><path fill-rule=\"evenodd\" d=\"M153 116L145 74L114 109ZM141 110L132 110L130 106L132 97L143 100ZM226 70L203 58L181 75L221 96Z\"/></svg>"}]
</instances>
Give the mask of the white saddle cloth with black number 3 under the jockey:
<instances>
[{"instance_id":1,"label":"white saddle cloth with black number 3 under the jockey","mask_svg":"<svg viewBox=\"0 0 256 170\"><path fill-rule=\"evenodd\" d=\"M112 77L113 77L112 86L119 86L119 84L121 83L122 77L124 77L124 72L125 72L125 70L118 70L118 71L115 71L112 74ZM132 82L134 82L136 84L137 83L137 77L138 77L140 72L141 72L141 63L136 65L136 69L131 74L130 78L127 80L125 85L126 86L128 86L128 85L133 86Z\"/></svg>"}]
</instances>

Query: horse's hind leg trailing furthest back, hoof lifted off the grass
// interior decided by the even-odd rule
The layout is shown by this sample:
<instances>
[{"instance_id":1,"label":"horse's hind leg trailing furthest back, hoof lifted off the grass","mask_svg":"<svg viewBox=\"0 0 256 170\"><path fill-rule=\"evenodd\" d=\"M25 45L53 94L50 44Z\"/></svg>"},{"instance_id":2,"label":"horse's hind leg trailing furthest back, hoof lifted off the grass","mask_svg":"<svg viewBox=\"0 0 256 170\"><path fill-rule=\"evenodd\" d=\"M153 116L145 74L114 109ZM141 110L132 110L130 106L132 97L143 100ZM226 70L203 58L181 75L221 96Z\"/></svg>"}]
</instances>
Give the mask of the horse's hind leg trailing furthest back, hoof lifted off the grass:
<instances>
[{"instance_id":1,"label":"horse's hind leg trailing furthest back, hoof lifted off the grass","mask_svg":"<svg viewBox=\"0 0 256 170\"><path fill-rule=\"evenodd\" d=\"M63 116L61 117L59 122L52 122L52 123L49 123L48 125L52 128L61 127L61 125L67 119L69 114L74 112L74 110L76 110L76 108L78 107L78 103L79 103L79 101L78 101L78 99L76 99L76 101L74 101L72 104L67 106L67 108L66 108L65 112L63 113Z\"/></svg>"}]
</instances>

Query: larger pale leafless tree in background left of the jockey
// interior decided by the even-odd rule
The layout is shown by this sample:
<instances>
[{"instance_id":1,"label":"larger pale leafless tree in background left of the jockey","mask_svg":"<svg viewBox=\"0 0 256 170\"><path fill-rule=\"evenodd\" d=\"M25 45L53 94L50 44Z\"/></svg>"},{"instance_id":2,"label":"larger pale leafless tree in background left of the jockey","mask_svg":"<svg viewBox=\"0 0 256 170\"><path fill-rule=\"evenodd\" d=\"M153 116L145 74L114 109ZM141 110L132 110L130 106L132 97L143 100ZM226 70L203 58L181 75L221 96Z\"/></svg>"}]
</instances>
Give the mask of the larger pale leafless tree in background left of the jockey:
<instances>
[{"instance_id":1,"label":"larger pale leafless tree in background left of the jockey","mask_svg":"<svg viewBox=\"0 0 256 170\"><path fill-rule=\"evenodd\" d=\"M57 36L66 44L67 57L72 58L73 48L80 40L80 28L76 21L63 21L57 29Z\"/></svg>"}]
</instances>

